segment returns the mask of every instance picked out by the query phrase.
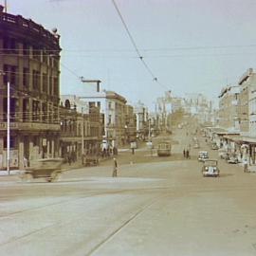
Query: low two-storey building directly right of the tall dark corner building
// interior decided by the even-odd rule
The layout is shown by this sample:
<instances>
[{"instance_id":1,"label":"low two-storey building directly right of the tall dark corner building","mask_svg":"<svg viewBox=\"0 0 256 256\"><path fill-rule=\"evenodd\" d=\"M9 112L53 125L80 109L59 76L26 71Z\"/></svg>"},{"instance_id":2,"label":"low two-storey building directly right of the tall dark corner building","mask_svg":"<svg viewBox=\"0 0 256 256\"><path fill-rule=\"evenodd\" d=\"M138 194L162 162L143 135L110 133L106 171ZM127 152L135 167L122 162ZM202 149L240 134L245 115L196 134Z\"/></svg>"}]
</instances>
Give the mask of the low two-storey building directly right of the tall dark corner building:
<instances>
[{"instance_id":1,"label":"low two-storey building directly right of the tall dark corner building","mask_svg":"<svg viewBox=\"0 0 256 256\"><path fill-rule=\"evenodd\" d=\"M74 95L61 96L61 103L64 106L61 109L62 156L72 151L77 158L82 154L98 154L102 140L100 107L95 102L87 103ZM65 128L66 123L74 123L77 128L72 132L72 129Z\"/></svg>"}]
</instances>

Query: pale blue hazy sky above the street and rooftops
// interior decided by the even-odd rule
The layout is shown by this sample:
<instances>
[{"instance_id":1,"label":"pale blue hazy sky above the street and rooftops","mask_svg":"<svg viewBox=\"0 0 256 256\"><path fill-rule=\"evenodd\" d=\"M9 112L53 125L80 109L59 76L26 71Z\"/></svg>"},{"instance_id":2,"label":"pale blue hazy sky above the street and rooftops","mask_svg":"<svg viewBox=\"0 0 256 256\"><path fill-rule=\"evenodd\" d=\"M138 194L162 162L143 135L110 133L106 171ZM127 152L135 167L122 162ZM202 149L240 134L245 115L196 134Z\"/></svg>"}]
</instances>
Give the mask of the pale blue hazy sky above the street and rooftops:
<instances>
[{"instance_id":1,"label":"pale blue hazy sky above the street and rooftops","mask_svg":"<svg viewBox=\"0 0 256 256\"><path fill-rule=\"evenodd\" d=\"M256 67L255 0L115 1L157 82L112 0L8 0L8 12L58 28L62 94L83 96L83 77L149 108L167 90L217 101L224 86Z\"/></svg>"}]
</instances>

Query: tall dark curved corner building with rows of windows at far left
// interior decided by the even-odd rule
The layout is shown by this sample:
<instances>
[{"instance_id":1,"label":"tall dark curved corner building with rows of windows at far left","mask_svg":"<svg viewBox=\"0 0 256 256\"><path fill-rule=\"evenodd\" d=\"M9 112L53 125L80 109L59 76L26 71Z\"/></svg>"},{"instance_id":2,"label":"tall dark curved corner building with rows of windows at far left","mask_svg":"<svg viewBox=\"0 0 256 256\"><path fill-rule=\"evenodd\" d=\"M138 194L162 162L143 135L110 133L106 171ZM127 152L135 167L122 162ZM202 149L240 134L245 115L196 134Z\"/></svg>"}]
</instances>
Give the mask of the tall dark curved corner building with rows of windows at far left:
<instances>
[{"instance_id":1,"label":"tall dark curved corner building with rows of windows at far left","mask_svg":"<svg viewBox=\"0 0 256 256\"><path fill-rule=\"evenodd\" d=\"M10 167L58 155L60 36L0 9L0 168L7 166L10 84Z\"/></svg>"}]
</instances>

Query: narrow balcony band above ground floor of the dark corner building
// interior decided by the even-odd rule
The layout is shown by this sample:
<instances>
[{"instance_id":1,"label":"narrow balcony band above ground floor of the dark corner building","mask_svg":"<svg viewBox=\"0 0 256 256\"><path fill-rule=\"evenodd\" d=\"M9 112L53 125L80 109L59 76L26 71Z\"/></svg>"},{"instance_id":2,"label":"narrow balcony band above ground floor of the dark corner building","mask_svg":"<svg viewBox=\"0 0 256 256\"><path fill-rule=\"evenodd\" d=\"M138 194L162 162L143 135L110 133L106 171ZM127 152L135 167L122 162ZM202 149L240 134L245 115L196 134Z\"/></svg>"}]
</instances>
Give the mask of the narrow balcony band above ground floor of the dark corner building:
<instances>
[{"instance_id":1,"label":"narrow balcony band above ground floor of the dark corner building","mask_svg":"<svg viewBox=\"0 0 256 256\"><path fill-rule=\"evenodd\" d=\"M14 131L60 131L61 125L58 123L42 122L10 122L10 130ZM0 131L7 130L7 122L0 123Z\"/></svg>"}]
</instances>

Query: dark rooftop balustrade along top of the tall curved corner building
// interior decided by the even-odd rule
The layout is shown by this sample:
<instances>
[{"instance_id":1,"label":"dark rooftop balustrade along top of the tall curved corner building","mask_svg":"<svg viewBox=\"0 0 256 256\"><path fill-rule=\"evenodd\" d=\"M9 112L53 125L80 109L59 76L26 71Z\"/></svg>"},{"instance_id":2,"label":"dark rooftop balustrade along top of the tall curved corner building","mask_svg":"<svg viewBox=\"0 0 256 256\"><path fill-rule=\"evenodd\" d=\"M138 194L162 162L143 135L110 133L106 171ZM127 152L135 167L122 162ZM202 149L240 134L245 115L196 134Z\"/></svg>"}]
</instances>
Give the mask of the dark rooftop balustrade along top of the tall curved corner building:
<instances>
[{"instance_id":1,"label":"dark rooftop balustrade along top of the tall curved corner building","mask_svg":"<svg viewBox=\"0 0 256 256\"><path fill-rule=\"evenodd\" d=\"M1 12L0 13L0 23L6 23L9 25L15 25L20 27L21 29L27 29L31 32L37 33L47 40L51 40L53 44L59 46L59 37L53 35L48 30L46 30L43 26L36 24L32 20L27 20L23 18L21 15L12 15L9 13Z\"/></svg>"}]
</instances>

